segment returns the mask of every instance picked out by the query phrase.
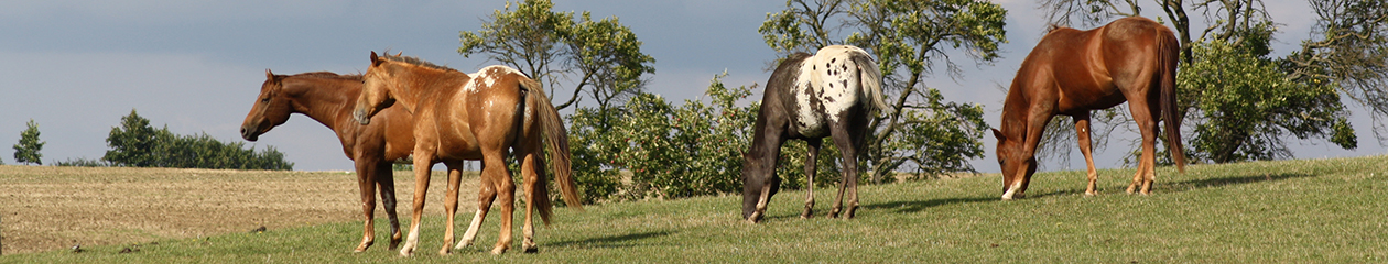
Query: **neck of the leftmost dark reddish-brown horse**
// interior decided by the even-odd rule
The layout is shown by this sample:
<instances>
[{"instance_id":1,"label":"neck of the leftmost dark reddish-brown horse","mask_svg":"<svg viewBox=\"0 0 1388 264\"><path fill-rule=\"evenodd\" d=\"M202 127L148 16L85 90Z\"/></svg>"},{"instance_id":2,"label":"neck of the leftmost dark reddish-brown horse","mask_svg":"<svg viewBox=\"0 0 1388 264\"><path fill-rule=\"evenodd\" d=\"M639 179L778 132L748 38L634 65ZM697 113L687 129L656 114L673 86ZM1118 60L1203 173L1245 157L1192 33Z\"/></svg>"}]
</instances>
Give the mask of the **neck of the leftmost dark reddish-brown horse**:
<instances>
[{"instance_id":1,"label":"neck of the leftmost dark reddish-brown horse","mask_svg":"<svg viewBox=\"0 0 1388 264\"><path fill-rule=\"evenodd\" d=\"M293 101L293 111L308 115L336 131L355 107L361 82L351 79L289 78L285 94Z\"/></svg>"}]
</instances>

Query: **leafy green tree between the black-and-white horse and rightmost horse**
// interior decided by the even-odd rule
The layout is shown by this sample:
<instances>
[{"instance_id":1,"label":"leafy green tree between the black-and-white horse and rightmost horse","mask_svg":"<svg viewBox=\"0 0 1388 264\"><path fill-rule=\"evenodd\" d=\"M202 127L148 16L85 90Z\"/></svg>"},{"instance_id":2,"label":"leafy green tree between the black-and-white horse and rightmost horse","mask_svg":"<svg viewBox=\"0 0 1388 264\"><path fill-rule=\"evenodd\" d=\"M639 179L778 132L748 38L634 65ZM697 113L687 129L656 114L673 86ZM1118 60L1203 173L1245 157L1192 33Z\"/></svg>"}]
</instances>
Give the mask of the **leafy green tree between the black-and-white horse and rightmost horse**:
<instances>
[{"instance_id":1,"label":"leafy green tree between the black-and-white horse and rightmost horse","mask_svg":"<svg viewBox=\"0 0 1388 264\"><path fill-rule=\"evenodd\" d=\"M1001 6L979 0L788 0L758 31L783 54L854 44L877 58L892 111L872 121L876 133L866 156L872 182L883 182L904 168L926 175L973 171L967 158L983 156L988 128L983 106L945 103L922 79L937 64L959 76L951 50L976 63L997 60L998 44L1006 42L1005 17Z\"/></svg>"}]
</instances>

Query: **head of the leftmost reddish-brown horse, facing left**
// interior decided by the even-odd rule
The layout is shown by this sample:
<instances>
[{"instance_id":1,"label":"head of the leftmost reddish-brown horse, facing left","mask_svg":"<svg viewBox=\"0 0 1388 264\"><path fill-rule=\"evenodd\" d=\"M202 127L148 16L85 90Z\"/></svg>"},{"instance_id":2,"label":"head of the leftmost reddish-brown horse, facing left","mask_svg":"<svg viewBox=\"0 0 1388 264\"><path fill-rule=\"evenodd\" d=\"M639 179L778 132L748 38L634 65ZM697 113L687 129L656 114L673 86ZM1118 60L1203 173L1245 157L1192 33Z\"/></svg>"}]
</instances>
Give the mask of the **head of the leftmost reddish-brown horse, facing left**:
<instances>
[{"instance_id":1,"label":"head of the leftmost reddish-brown horse, facing left","mask_svg":"<svg viewBox=\"0 0 1388 264\"><path fill-rule=\"evenodd\" d=\"M254 142L260 139L261 133L289 121L293 108L289 96L285 96L283 92L285 83L280 82L283 78L265 69L265 83L261 83L261 93L255 97L251 111L246 114L246 121L242 122L243 139Z\"/></svg>"}]
</instances>

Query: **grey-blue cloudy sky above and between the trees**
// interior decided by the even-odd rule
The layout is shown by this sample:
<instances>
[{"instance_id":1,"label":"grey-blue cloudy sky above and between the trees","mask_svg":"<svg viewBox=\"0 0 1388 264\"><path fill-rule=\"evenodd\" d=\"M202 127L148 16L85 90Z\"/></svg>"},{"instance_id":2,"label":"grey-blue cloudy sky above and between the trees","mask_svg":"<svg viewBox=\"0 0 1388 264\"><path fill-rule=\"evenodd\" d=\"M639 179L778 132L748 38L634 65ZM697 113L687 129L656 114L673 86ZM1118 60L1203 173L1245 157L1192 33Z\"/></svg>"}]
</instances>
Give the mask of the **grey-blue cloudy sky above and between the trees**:
<instances>
[{"instance_id":1,"label":"grey-blue cloudy sky above and between the trees","mask_svg":"<svg viewBox=\"0 0 1388 264\"><path fill-rule=\"evenodd\" d=\"M554 3L557 11L591 11L594 18L618 17L630 26L644 43L641 50L657 60L648 92L672 100L700 99L709 79L723 71L730 86L765 83L766 63L776 51L756 28L768 13L786 8L781 0ZM984 104L991 125L1001 115L1002 86L1010 83L1045 28L1037 1L995 3L1009 11L1004 58L990 65L955 56L965 68L962 78L938 74L926 82L945 100ZM1285 54L1307 36L1313 18L1305 15L1305 3L1264 3L1274 21L1284 24L1274 54ZM244 142L240 124L260 93L265 69L357 74L365 71L369 51L390 49L471 72L490 63L459 56L458 32L480 29L487 15L504 7L505 1L441 0L6 1L0 4L0 146L18 142L32 118L47 142L44 164L100 158L111 128L132 108L174 133L205 132L223 142ZM1145 10L1149 17L1159 11ZM1366 111L1348 106L1360 147L1341 150L1324 140L1291 139L1298 158L1384 153ZM1123 165L1128 146L1122 138L1095 153L1098 167ZM992 136L984 136L987 153L972 161L979 171L998 171L994 145ZM332 131L305 115L293 115L247 146L275 146L296 163L294 170L353 170ZM6 164L14 164L10 150L0 151ZM1073 156L1067 164L1048 163L1042 170L1083 170L1078 151Z\"/></svg>"}]
</instances>

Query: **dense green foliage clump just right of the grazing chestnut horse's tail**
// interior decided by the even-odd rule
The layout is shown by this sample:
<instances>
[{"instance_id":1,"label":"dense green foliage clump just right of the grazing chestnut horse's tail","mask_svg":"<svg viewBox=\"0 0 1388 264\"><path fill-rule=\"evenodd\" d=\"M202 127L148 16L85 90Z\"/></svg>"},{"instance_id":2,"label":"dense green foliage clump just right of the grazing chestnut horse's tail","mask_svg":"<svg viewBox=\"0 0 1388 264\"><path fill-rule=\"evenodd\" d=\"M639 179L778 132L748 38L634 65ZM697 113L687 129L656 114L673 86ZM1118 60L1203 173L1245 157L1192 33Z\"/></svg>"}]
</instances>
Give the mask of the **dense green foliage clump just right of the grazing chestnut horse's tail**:
<instances>
[{"instance_id":1,"label":"dense green foliage clump just right of the grazing chestnut horse's tail","mask_svg":"<svg viewBox=\"0 0 1388 264\"><path fill-rule=\"evenodd\" d=\"M1177 81L1181 90L1195 93L1188 97L1199 97L1188 114L1196 124L1192 157L1213 163L1292 157L1281 140L1285 135L1357 146L1334 83L1296 82L1248 44L1201 42L1192 56L1196 61L1181 68Z\"/></svg>"}]
</instances>

